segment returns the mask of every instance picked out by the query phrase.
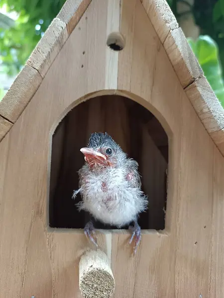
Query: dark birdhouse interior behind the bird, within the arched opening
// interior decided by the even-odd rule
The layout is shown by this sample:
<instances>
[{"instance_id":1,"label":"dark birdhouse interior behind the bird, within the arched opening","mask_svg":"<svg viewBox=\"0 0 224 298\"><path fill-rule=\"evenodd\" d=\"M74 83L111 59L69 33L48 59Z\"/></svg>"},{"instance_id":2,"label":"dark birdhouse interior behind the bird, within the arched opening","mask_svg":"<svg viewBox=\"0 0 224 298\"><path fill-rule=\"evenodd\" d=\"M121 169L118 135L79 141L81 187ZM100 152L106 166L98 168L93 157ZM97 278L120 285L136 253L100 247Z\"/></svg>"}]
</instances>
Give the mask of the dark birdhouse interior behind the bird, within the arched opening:
<instances>
[{"instance_id":1,"label":"dark birdhouse interior behind the bird, within the arched opening","mask_svg":"<svg viewBox=\"0 0 224 298\"><path fill-rule=\"evenodd\" d=\"M148 195L148 210L139 216L142 229L164 229L167 200L168 137L156 117L140 104L117 95L99 96L73 108L59 123L52 139L49 225L84 228L90 216L79 212L81 200L78 170L94 132L107 132L129 157L139 164L142 190ZM94 222L96 228L116 227ZM122 228L128 228L122 227Z\"/></svg>"}]
</instances>

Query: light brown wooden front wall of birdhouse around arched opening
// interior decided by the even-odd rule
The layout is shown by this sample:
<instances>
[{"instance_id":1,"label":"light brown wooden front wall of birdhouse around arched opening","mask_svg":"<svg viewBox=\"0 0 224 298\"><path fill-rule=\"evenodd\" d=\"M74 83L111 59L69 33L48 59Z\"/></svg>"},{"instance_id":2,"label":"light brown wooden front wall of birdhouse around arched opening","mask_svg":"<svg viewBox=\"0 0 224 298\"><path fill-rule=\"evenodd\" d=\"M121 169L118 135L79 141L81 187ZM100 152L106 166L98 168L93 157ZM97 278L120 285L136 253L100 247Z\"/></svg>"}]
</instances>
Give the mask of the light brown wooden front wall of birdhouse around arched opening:
<instances>
[{"instance_id":1,"label":"light brown wooden front wall of birdhouse around arched opening","mask_svg":"<svg viewBox=\"0 0 224 298\"><path fill-rule=\"evenodd\" d=\"M109 5L109 0L90 3L29 104L0 142L2 297L81 298L78 264L91 245L83 230L48 227L51 141L62 118L107 85ZM119 31L126 45L118 55L117 94L133 99L159 119L169 138L169 164L164 231L143 231L135 257L127 246L130 235L126 231L98 233L98 243L112 264L113 297L222 297L223 156L188 99L190 87L183 90L141 2L122 0L121 9ZM205 88L203 83L201 88ZM192 91L196 101L197 92ZM87 121L97 120L94 128L99 129L102 120L95 117L101 105L90 106L94 112L81 114L79 125L70 120L84 140L91 129ZM128 148L126 134L131 136L131 131L123 104L114 101L108 106L112 113L105 113L106 125L113 130L114 118L124 127L119 142ZM65 131L62 126L56 144ZM60 159L61 151L59 147L52 152L53 159ZM68 156L66 162L73 161Z\"/></svg>"}]
</instances>

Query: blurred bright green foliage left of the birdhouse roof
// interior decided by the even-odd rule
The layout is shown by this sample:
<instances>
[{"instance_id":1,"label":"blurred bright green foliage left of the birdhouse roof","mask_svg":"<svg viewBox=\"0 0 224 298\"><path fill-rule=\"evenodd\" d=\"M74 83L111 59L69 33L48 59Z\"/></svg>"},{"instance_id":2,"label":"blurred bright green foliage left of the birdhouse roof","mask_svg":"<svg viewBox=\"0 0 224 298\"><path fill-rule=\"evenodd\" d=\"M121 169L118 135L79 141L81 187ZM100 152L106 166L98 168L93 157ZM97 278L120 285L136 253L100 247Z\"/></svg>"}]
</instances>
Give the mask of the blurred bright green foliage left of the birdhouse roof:
<instances>
[{"instance_id":1,"label":"blurred bright green foliage left of the birdhouse roof","mask_svg":"<svg viewBox=\"0 0 224 298\"><path fill-rule=\"evenodd\" d=\"M14 26L0 28L0 59L4 71L17 74L65 0L0 0L7 11L19 13Z\"/></svg>"}]
</instances>

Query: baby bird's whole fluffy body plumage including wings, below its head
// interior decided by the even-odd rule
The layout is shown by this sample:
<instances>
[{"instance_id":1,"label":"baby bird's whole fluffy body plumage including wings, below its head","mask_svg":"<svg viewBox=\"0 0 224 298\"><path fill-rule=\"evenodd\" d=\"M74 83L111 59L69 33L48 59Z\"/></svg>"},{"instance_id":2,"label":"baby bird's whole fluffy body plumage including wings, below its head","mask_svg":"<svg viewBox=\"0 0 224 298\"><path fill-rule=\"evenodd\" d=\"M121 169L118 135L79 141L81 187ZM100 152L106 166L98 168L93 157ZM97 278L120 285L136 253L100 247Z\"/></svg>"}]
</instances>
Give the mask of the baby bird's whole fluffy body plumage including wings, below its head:
<instances>
[{"instance_id":1,"label":"baby bird's whole fluffy body plumage including wings, below its head","mask_svg":"<svg viewBox=\"0 0 224 298\"><path fill-rule=\"evenodd\" d=\"M147 197L141 191L140 177L135 160L118 152L120 161L115 167L91 170L88 164L79 171L80 193L83 201L79 210L86 210L97 220L121 227L136 221L137 215L147 208ZM120 156L119 156L120 155Z\"/></svg>"}]
</instances>

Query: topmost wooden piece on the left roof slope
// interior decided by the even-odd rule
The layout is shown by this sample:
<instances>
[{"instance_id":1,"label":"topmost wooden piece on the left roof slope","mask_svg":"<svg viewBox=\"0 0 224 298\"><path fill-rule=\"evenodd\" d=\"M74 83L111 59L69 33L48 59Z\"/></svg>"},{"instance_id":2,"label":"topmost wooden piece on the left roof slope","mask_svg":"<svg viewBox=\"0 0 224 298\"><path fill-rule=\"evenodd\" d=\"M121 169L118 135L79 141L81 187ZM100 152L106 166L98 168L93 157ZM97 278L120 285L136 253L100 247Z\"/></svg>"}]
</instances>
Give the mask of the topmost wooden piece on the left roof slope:
<instances>
[{"instance_id":1,"label":"topmost wooden piece on the left roof slope","mask_svg":"<svg viewBox=\"0 0 224 298\"><path fill-rule=\"evenodd\" d=\"M68 34L70 35L84 12L88 8L91 0L67 0L63 5L57 18L67 24Z\"/></svg>"}]
</instances>

